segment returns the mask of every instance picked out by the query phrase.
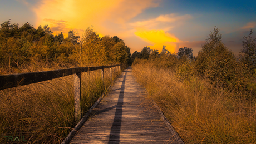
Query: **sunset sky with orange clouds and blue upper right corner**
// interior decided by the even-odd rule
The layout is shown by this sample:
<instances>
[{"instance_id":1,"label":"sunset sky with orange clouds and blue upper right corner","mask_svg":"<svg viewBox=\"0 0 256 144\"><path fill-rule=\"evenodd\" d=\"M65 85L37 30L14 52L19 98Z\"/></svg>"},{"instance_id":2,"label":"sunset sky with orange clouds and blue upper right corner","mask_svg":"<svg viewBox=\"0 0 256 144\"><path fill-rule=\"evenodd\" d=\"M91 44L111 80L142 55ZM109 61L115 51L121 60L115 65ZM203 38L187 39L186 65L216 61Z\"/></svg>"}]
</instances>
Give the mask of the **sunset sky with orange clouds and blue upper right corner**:
<instances>
[{"instance_id":1,"label":"sunset sky with orange clouds and blue upper right corner","mask_svg":"<svg viewBox=\"0 0 256 144\"><path fill-rule=\"evenodd\" d=\"M131 53L166 46L171 53L189 47L196 55L216 26L225 46L238 54L243 37L256 27L256 1L0 0L0 21L8 19L19 26L48 25L66 37L71 29L82 36L93 26L100 37L123 39Z\"/></svg>"}]
</instances>

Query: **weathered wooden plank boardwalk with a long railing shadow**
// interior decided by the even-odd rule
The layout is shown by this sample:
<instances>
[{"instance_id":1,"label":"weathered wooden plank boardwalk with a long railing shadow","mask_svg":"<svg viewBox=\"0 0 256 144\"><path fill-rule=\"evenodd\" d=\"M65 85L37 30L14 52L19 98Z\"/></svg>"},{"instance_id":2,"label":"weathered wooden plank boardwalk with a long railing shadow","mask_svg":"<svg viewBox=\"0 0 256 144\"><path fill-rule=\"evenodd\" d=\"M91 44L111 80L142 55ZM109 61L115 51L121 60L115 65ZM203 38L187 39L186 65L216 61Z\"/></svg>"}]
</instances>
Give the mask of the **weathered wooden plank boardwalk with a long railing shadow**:
<instances>
[{"instance_id":1,"label":"weathered wooden plank boardwalk with a long railing shadow","mask_svg":"<svg viewBox=\"0 0 256 144\"><path fill-rule=\"evenodd\" d=\"M71 143L178 143L144 92L127 68Z\"/></svg>"}]
</instances>

